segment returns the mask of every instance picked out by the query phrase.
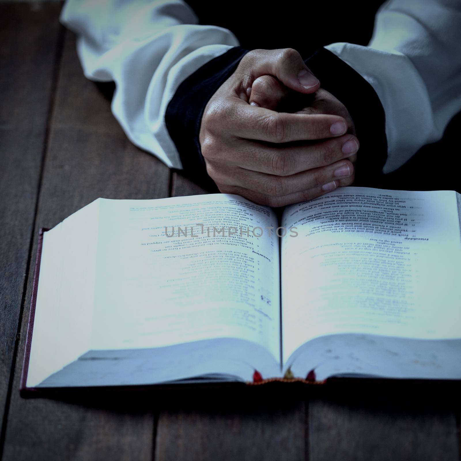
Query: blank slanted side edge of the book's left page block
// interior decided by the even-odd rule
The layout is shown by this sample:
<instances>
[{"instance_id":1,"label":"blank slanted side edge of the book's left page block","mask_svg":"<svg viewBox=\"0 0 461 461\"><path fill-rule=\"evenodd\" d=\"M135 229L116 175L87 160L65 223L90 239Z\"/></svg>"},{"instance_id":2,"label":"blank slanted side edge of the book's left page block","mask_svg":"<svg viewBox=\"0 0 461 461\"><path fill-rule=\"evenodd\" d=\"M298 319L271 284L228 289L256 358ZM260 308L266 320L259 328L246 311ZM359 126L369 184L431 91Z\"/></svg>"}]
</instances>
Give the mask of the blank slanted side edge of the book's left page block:
<instances>
[{"instance_id":1,"label":"blank slanted side edge of the book's left page block","mask_svg":"<svg viewBox=\"0 0 461 461\"><path fill-rule=\"evenodd\" d=\"M96 200L43 234L28 386L90 348L98 219Z\"/></svg>"}]
</instances>

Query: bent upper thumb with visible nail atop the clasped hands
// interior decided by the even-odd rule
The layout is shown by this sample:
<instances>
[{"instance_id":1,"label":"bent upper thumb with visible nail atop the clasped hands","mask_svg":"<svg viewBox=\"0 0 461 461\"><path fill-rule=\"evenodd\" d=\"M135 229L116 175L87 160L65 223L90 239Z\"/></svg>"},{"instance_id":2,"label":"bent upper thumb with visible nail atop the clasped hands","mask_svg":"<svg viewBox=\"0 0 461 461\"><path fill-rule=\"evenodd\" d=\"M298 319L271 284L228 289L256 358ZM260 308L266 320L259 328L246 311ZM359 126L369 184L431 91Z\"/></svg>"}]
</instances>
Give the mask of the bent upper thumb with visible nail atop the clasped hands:
<instances>
[{"instance_id":1,"label":"bent upper thumb with visible nail atop the clasped hands","mask_svg":"<svg viewBox=\"0 0 461 461\"><path fill-rule=\"evenodd\" d=\"M309 70L293 48L267 50L266 59L260 59L255 71L260 77L264 74L277 77L285 86L300 93L314 93L320 88L317 77Z\"/></svg>"}]
</instances>

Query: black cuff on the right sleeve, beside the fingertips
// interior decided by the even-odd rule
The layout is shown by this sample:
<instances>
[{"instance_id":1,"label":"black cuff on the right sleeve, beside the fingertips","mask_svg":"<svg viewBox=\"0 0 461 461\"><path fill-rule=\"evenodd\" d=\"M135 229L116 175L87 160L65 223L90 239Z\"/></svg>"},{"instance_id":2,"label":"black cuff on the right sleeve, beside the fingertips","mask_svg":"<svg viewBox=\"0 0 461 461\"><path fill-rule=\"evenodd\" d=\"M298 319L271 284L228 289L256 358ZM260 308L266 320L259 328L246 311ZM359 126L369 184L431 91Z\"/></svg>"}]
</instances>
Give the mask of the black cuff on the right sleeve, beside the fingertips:
<instances>
[{"instance_id":1,"label":"black cuff on the right sleeve, beside the fingertips","mask_svg":"<svg viewBox=\"0 0 461 461\"><path fill-rule=\"evenodd\" d=\"M326 48L305 63L320 80L320 87L340 100L352 117L360 142L354 185L377 187L387 160L385 116L378 95L358 72Z\"/></svg>"}]
</instances>

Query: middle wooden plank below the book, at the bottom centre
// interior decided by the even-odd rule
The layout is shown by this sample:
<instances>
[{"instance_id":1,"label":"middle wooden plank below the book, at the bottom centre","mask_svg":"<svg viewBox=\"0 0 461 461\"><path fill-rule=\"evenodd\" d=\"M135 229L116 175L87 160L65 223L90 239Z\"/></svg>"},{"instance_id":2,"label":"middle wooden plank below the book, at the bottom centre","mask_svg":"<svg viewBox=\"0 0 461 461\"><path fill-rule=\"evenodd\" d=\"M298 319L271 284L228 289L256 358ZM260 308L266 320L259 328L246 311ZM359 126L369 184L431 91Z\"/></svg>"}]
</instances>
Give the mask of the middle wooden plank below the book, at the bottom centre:
<instances>
[{"instance_id":1,"label":"middle wooden plank below the book, at the bottom centre","mask_svg":"<svg viewBox=\"0 0 461 461\"><path fill-rule=\"evenodd\" d=\"M303 401L217 394L160 412L156 461L305 459Z\"/></svg>"}]
</instances>

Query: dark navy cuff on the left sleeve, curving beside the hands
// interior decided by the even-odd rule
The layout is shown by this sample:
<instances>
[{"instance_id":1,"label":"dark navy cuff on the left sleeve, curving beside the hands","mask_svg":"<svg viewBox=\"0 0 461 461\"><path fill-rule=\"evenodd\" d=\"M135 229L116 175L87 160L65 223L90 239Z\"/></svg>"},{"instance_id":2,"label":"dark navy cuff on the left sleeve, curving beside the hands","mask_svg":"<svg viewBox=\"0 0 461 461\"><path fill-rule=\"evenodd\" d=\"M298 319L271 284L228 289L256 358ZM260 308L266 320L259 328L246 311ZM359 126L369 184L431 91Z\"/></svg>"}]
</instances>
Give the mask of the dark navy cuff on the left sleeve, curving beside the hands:
<instances>
[{"instance_id":1,"label":"dark navy cuff on the left sleeve, curving beside the hands","mask_svg":"<svg viewBox=\"0 0 461 461\"><path fill-rule=\"evenodd\" d=\"M236 70L246 53L248 50L242 47L233 47L202 65L179 85L166 108L166 128L175 143L185 175L207 189L216 186L207 175L201 154L201 118L210 98Z\"/></svg>"}]
</instances>

